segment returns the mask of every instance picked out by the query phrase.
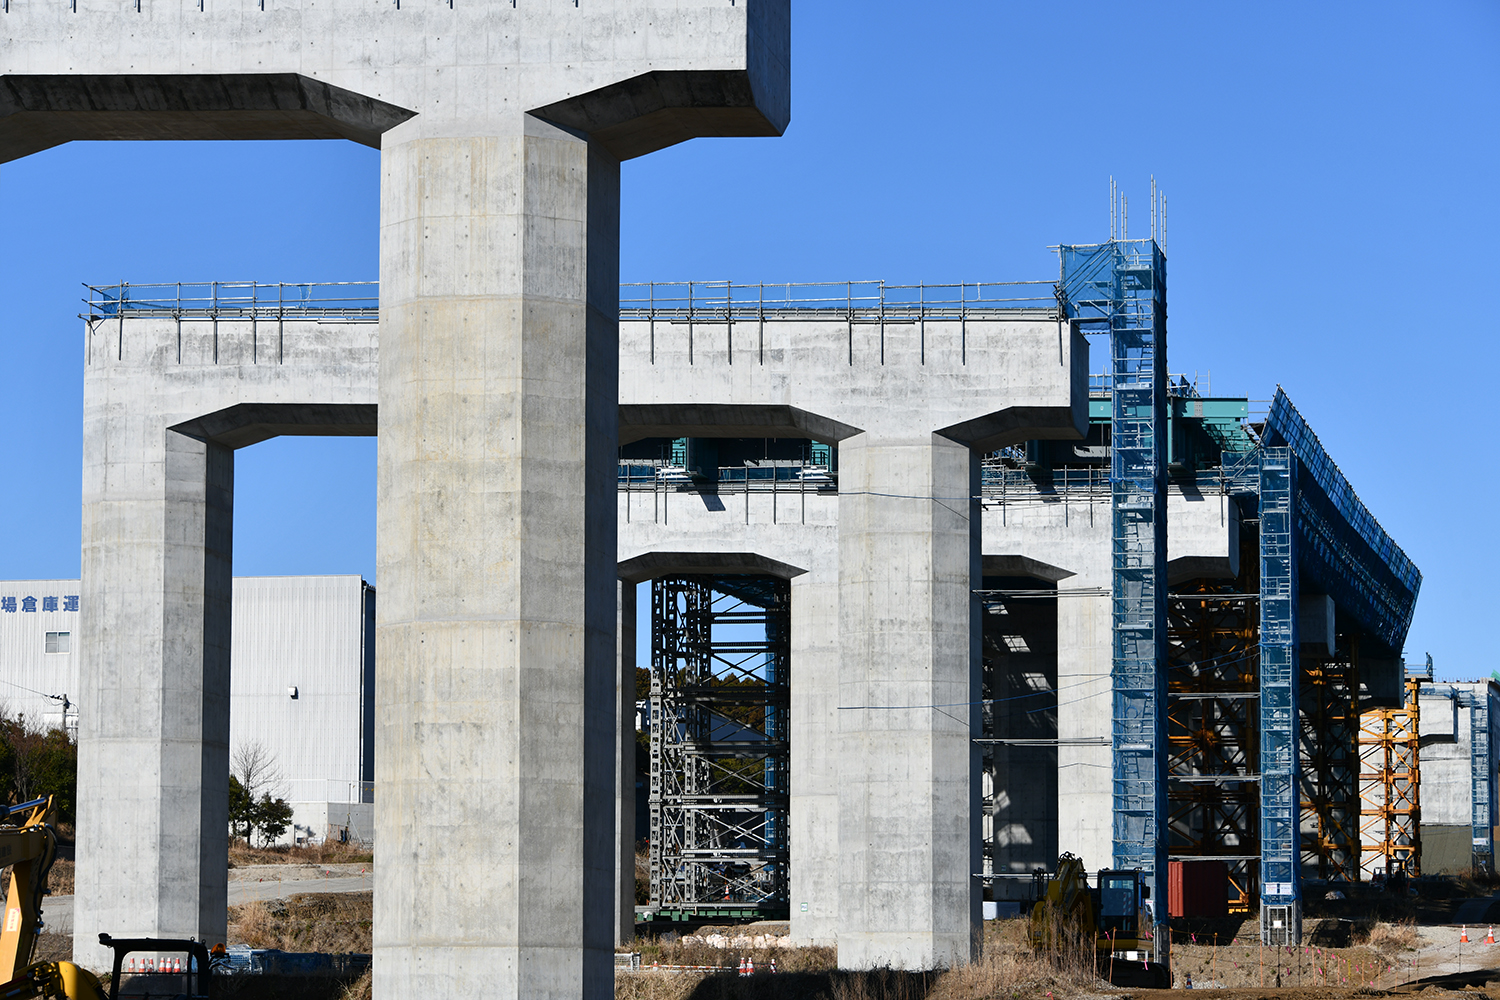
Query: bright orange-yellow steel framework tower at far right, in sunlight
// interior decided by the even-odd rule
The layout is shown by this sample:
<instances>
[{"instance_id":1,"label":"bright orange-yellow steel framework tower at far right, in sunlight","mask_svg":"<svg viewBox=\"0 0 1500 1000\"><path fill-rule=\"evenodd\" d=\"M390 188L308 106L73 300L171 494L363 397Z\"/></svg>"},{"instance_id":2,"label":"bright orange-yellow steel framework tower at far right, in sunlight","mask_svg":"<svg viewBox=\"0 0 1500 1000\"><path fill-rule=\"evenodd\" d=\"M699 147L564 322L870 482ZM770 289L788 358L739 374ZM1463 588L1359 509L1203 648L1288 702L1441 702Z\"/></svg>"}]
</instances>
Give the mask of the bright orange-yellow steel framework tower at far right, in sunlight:
<instances>
[{"instance_id":1,"label":"bright orange-yellow steel framework tower at far right, in sunlight","mask_svg":"<svg viewBox=\"0 0 1500 1000\"><path fill-rule=\"evenodd\" d=\"M1407 676L1406 705L1359 717L1359 867L1366 877L1420 873L1420 756L1418 691Z\"/></svg>"}]
</instances>

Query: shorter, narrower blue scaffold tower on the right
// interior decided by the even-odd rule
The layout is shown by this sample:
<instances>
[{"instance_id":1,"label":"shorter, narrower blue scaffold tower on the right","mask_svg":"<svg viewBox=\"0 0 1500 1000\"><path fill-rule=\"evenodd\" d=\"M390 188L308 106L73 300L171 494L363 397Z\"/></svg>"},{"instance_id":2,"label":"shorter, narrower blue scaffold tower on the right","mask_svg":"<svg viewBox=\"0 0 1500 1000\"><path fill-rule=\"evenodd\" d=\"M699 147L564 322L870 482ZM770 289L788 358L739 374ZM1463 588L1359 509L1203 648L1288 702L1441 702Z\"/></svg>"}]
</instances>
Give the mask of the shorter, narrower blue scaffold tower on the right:
<instances>
[{"instance_id":1,"label":"shorter, narrower blue scaffold tower on the right","mask_svg":"<svg viewBox=\"0 0 1500 1000\"><path fill-rule=\"evenodd\" d=\"M1298 844L1296 456L1260 456L1260 936L1302 940Z\"/></svg>"}]
</instances>

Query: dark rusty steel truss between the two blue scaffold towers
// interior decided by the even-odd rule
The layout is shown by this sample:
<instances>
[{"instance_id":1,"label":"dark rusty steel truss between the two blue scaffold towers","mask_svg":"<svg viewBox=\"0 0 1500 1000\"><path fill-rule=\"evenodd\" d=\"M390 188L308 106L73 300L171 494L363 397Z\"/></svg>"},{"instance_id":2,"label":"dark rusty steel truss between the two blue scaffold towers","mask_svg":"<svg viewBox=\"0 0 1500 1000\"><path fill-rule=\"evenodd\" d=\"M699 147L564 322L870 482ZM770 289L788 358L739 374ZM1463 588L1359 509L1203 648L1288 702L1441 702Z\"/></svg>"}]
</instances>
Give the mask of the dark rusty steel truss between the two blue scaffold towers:
<instances>
[{"instance_id":1,"label":"dark rusty steel truss between the two blue scaffold towers","mask_svg":"<svg viewBox=\"0 0 1500 1000\"><path fill-rule=\"evenodd\" d=\"M1260 855L1260 634L1254 561L1239 580L1192 580L1167 604L1172 858L1220 858L1248 912Z\"/></svg>"}]
</instances>

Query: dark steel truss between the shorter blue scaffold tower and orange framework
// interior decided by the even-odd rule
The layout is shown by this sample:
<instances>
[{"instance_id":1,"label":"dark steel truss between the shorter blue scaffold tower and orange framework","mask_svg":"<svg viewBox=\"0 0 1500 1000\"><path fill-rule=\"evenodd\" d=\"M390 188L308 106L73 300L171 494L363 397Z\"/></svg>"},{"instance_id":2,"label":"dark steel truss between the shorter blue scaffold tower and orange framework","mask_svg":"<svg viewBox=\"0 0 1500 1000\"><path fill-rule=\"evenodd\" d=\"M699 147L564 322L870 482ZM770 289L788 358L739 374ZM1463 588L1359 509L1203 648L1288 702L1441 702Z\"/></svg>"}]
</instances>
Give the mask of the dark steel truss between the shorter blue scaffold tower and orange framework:
<instances>
[{"instance_id":1,"label":"dark steel truss between the shorter blue scaffold tower and orange framework","mask_svg":"<svg viewBox=\"0 0 1500 1000\"><path fill-rule=\"evenodd\" d=\"M1359 880L1359 636L1302 658L1302 865Z\"/></svg>"}]
</instances>

